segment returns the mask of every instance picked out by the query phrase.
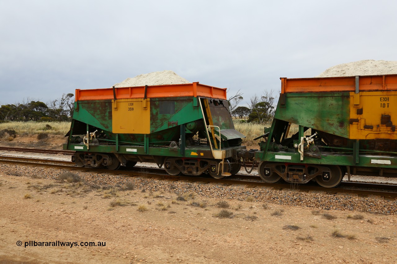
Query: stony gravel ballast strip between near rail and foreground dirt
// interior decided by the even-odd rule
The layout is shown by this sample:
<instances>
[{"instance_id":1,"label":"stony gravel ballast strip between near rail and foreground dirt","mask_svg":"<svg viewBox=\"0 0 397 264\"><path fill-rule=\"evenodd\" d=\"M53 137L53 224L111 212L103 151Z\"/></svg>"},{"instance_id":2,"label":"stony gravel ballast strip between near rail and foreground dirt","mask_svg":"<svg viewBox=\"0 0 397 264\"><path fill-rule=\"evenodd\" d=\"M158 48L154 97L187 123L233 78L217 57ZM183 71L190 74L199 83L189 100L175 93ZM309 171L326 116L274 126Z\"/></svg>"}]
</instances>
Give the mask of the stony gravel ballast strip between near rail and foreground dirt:
<instances>
[{"instance_id":1,"label":"stony gravel ballast strip between near rail and foreground dirt","mask_svg":"<svg viewBox=\"0 0 397 264\"><path fill-rule=\"evenodd\" d=\"M20 154L19 154L20 155ZM35 154L36 155L36 154ZM34 155L34 156L35 156ZM30 155L29 155L30 156ZM46 156L49 156L46 154ZM69 156L52 155L59 160L69 160ZM51 157L54 159L55 157ZM199 197L213 197L222 199L237 199L244 201L253 199L263 203L310 207L325 210L356 210L378 214L397 214L397 201L389 201L378 196L358 197L350 194L328 194L326 192L309 191L300 192L299 189L279 191L271 187L245 187L240 185L225 186L223 184L190 183L186 181L161 180L146 177L129 177L123 174L107 174L95 172L80 172L76 170L60 170L44 166L20 166L13 164L0 164L0 170L8 175L24 175L35 178L57 178L61 173L71 171L81 176L89 184L122 186L131 181L139 189L146 191L164 191L166 193L193 192ZM144 168L142 169L144 172Z\"/></svg>"}]
</instances>

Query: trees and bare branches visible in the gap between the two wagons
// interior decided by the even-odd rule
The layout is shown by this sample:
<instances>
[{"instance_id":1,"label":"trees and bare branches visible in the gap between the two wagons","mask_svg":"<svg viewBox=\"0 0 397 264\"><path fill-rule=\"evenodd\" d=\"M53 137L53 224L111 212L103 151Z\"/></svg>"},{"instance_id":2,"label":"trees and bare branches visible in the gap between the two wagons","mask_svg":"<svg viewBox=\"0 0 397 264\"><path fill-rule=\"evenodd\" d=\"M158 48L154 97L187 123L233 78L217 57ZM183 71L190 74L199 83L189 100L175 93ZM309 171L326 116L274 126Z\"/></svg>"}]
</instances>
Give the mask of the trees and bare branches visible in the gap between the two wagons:
<instances>
[{"instance_id":1,"label":"trees and bare branches visible in the gap between the two wagons","mask_svg":"<svg viewBox=\"0 0 397 264\"><path fill-rule=\"evenodd\" d=\"M244 99L242 95L239 90L228 99L230 113L233 117L261 124L273 119L276 110L274 105L276 98L273 97L273 90L264 92L262 96L254 94L248 103L249 107L238 106Z\"/></svg>"}]
</instances>

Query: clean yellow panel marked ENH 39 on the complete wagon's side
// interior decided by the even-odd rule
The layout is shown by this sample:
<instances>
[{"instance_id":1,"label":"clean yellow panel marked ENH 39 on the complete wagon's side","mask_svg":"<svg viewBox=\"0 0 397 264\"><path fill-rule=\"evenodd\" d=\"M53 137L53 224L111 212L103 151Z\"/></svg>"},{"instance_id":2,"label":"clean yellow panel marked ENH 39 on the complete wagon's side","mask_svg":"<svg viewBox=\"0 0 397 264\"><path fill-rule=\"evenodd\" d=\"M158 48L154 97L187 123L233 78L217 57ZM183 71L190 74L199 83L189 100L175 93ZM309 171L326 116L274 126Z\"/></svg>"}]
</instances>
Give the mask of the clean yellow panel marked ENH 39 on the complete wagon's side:
<instances>
[{"instance_id":1,"label":"clean yellow panel marked ENH 39 on the complete wagon's side","mask_svg":"<svg viewBox=\"0 0 397 264\"><path fill-rule=\"evenodd\" d=\"M149 134L149 99L117 99L112 101L113 133Z\"/></svg>"}]
</instances>

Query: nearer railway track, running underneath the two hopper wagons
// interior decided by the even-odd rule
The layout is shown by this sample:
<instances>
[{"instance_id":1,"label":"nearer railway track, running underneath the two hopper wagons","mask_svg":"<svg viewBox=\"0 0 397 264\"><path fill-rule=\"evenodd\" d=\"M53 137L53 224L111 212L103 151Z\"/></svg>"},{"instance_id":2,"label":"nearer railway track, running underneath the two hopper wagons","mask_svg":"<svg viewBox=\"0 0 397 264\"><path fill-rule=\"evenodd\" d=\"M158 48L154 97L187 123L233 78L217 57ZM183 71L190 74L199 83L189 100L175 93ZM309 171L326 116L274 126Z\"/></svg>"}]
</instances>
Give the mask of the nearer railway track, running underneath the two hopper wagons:
<instances>
[{"instance_id":1,"label":"nearer railway track, running underneath the two hopper wagons","mask_svg":"<svg viewBox=\"0 0 397 264\"><path fill-rule=\"evenodd\" d=\"M315 184L287 184L287 183L276 183L269 184L262 182L259 176L256 175L244 175L236 174L235 176L214 179L210 176L171 176L166 174L164 169L160 168L147 168L136 166L133 169L120 167L119 170L108 170L104 168L87 168L87 167L77 167L71 161L57 161L48 159L34 159L34 158L22 158L22 157L8 157L0 156L0 163L13 163L20 165L34 165L34 166L50 166L55 168L66 168L75 169L83 171L93 171L100 173L110 173L110 174L125 174L127 176L145 176L148 178L156 177L163 179L173 179L173 180L186 180L191 182L197 182L200 184L207 184L210 182L220 183L224 185L245 185L246 187L273 187L279 190L295 190L295 191L325 191L328 194L336 193L350 193L357 194L361 196L368 195L378 195L385 199L394 200L397 198L397 186L392 184L370 184L370 183L360 183L360 182L342 182L337 188L324 188L321 186L316 186ZM144 172L143 172L144 170Z\"/></svg>"}]
</instances>

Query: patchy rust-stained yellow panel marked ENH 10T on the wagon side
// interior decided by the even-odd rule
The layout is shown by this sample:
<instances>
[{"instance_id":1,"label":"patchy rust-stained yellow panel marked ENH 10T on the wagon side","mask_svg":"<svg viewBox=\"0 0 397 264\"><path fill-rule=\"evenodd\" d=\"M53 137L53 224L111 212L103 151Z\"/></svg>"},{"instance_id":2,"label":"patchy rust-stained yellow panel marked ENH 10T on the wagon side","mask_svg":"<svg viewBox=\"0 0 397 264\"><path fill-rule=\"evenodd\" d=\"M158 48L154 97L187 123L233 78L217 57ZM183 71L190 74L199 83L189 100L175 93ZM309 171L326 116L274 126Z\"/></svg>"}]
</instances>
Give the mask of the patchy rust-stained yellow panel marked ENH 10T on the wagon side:
<instances>
[{"instance_id":1,"label":"patchy rust-stained yellow panel marked ENH 10T on the wagon side","mask_svg":"<svg viewBox=\"0 0 397 264\"><path fill-rule=\"evenodd\" d=\"M382 124L382 116L389 124ZM397 125L397 91L351 92L350 119L354 121L350 124L351 139L397 139L392 127Z\"/></svg>"}]
</instances>

